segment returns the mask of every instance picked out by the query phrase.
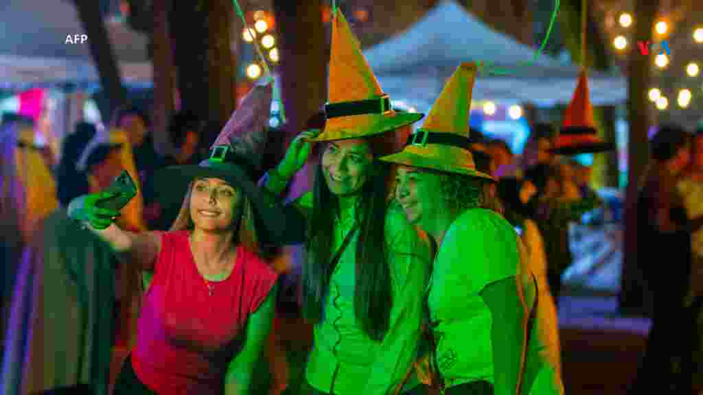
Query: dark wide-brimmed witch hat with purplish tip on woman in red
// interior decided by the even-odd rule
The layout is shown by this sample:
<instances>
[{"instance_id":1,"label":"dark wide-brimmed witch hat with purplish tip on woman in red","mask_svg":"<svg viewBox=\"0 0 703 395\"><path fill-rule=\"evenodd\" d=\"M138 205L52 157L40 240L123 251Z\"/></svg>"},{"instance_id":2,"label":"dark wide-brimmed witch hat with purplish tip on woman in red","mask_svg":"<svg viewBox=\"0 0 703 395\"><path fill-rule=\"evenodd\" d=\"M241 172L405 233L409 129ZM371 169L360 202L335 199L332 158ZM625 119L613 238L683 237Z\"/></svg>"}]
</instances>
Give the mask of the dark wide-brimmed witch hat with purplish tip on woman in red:
<instances>
[{"instance_id":1,"label":"dark wide-brimmed witch hat with purplish tip on woman in red","mask_svg":"<svg viewBox=\"0 0 703 395\"><path fill-rule=\"evenodd\" d=\"M254 181L259 166L257 157L262 155L268 136L272 96L272 82L254 86L220 131L206 160L197 165L169 166L156 171L156 195L162 204L174 204L174 197L182 200L195 179L222 179L240 188L251 201L261 242L276 244L291 233L303 234L304 220L289 220L295 213L285 210ZM298 229L290 228L297 225Z\"/></svg>"}]
</instances>

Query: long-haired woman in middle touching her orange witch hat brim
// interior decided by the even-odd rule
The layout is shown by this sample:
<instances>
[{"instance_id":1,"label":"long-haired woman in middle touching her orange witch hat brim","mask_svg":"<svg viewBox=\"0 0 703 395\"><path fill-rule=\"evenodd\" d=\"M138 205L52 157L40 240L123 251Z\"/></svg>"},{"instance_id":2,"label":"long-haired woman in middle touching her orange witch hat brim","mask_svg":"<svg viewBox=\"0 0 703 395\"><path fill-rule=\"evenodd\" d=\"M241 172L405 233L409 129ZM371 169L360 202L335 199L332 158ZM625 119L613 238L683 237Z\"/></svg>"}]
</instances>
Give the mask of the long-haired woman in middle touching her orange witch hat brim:
<instances>
[{"instance_id":1,"label":"long-haired woman in middle touching her orange witch hat brim","mask_svg":"<svg viewBox=\"0 0 703 395\"><path fill-rule=\"evenodd\" d=\"M315 328L307 384L311 394L395 394L418 353L430 252L427 238L389 209L392 171L378 157L392 153L389 132L422 115L391 110L339 11L328 86L325 129L295 138L265 183L282 192L310 143L322 143L313 190L295 201L309 218L303 309Z\"/></svg>"}]
</instances>

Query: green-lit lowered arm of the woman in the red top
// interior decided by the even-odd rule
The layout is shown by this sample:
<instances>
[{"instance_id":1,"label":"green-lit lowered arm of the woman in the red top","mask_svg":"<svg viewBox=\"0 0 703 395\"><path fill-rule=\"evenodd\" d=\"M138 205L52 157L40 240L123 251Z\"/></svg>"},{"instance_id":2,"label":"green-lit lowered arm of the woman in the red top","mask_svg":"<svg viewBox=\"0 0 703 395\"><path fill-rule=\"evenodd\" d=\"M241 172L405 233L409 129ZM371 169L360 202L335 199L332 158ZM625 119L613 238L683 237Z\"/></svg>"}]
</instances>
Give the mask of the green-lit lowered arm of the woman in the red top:
<instances>
[{"instance_id":1,"label":"green-lit lowered arm of the woman in the red top","mask_svg":"<svg viewBox=\"0 0 703 395\"><path fill-rule=\"evenodd\" d=\"M225 395L254 394L252 388L254 368L264 352L266 339L269 338L269 332L271 332L275 301L276 286L274 285L264 303L249 318L244 347L227 367L224 383Z\"/></svg>"}]
</instances>

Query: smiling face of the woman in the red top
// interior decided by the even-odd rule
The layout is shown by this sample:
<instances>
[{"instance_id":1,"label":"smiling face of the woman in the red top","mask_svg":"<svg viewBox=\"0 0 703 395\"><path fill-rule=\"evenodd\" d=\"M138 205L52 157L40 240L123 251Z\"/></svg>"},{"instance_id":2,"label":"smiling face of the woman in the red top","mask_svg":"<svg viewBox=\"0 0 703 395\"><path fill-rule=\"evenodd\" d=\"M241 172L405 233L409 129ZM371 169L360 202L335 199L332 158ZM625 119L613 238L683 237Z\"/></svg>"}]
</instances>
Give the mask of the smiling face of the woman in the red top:
<instances>
[{"instance_id":1,"label":"smiling face of the woman in the red top","mask_svg":"<svg viewBox=\"0 0 703 395\"><path fill-rule=\"evenodd\" d=\"M221 179L196 179L191 190L190 213L195 228L207 232L232 230L241 216L242 195Z\"/></svg>"}]
</instances>

